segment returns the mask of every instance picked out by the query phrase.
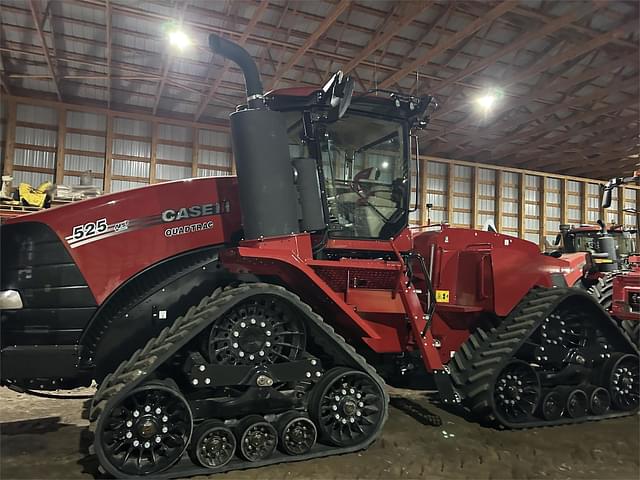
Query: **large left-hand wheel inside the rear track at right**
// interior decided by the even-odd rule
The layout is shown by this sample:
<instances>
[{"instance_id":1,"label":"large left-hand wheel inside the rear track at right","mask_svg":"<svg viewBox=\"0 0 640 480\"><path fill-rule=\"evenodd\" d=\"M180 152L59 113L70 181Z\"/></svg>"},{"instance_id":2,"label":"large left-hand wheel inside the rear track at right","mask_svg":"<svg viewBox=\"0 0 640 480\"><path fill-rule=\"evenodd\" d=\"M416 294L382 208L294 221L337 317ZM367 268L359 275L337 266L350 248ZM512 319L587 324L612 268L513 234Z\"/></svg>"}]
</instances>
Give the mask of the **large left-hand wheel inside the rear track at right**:
<instances>
[{"instance_id":1,"label":"large left-hand wheel inside the rear track at right","mask_svg":"<svg viewBox=\"0 0 640 480\"><path fill-rule=\"evenodd\" d=\"M542 396L540 379L522 360L509 362L498 374L493 388L496 415L508 423L529 421Z\"/></svg>"}]
</instances>

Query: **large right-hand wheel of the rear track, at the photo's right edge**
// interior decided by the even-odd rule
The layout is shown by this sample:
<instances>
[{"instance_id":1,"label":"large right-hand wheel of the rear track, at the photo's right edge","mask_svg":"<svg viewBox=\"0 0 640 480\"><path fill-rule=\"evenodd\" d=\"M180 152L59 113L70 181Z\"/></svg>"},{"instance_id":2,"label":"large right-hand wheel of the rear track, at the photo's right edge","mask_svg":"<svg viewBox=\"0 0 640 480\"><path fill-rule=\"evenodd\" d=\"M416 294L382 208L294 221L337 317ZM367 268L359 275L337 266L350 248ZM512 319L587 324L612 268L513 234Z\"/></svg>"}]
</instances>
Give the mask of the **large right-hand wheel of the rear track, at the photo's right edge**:
<instances>
[{"instance_id":1,"label":"large right-hand wheel of the rear track, at the photo's right edge","mask_svg":"<svg viewBox=\"0 0 640 480\"><path fill-rule=\"evenodd\" d=\"M630 412L640 400L640 360L636 355L616 353L604 365L603 386L609 390L614 408Z\"/></svg>"}]
</instances>

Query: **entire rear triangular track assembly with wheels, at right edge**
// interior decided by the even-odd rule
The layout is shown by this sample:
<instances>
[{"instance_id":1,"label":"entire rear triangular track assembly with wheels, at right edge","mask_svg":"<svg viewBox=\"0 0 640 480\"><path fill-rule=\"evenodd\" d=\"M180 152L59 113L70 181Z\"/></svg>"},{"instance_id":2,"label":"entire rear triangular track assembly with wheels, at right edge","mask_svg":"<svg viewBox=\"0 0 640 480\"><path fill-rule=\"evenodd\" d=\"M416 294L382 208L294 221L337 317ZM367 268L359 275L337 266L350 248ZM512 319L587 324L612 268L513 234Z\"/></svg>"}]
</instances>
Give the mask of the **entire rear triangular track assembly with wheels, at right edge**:
<instances>
[{"instance_id":1,"label":"entire rear triangular track assembly with wheels, at right edge","mask_svg":"<svg viewBox=\"0 0 640 480\"><path fill-rule=\"evenodd\" d=\"M486 423L526 428L638 410L638 350L586 293L535 289L450 363L464 405Z\"/></svg>"}]
</instances>

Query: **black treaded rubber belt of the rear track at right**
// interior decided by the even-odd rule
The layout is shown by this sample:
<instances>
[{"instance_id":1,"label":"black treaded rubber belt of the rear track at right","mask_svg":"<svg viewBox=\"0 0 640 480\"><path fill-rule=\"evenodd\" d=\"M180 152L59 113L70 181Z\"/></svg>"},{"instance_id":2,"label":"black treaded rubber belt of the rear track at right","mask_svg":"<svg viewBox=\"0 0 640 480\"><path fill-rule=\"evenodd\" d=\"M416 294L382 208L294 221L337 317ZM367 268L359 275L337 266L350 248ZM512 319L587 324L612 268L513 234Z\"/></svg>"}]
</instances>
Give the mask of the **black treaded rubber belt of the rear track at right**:
<instances>
[{"instance_id":1,"label":"black treaded rubber belt of the rear track at right","mask_svg":"<svg viewBox=\"0 0 640 480\"><path fill-rule=\"evenodd\" d=\"M528 423L509 423L499 421L492 413L492 385L495 377L512 359L524 341L535 332L545 318L565 298L583 295L576 289L553 288L535 289L525 296L516 309L496 328L485 332L476 330L463 344L451 361L450 371L454 384L463 396L463 404L471 413L487 423L507 428L530 428L540 426L562 425L568 423L582 423L590 420L601 420L627 415L635 412L617 412L607 415L586 416L578 419L562 418L557 421L535 421ZM604 312L604 310L603 310ZM604 316L603 316L604 317ZM607 315L606 318L610 317ZM610 320L611 324L623 336L631 350L637 349L629 337L620 329L618 324Z\"/></svg>"}]
</instances>

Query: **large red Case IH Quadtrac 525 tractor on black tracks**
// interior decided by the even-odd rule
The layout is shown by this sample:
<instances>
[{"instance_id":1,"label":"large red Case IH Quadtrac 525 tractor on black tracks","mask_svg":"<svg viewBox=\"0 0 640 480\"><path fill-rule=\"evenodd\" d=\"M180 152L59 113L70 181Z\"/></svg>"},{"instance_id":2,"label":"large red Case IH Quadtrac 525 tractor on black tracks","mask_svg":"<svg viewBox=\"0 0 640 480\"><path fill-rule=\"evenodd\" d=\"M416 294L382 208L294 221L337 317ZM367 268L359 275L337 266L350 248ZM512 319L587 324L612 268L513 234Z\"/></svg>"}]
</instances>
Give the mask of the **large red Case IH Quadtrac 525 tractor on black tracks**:
<instances>
[{"instance_id":1,"label":"large red Case IH Quadtrac 525 tractor on black tracks","mask_svg":"<svg viewBox=\"0 0 640 480\"><path fill-rule=\"evenodd\" d=\"M237 178L7 222L4 385L95 380L91 451L116 477L365 448L387 418L374 366L407 358L444 405L507 428L638 408L638 352L566 288L567 262L493 232L408 228L411 132L431 98L352 98L340 75L263 95L246 51L210 43L247 84Z\"/></svg>"}]
</instances>

